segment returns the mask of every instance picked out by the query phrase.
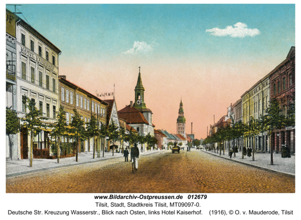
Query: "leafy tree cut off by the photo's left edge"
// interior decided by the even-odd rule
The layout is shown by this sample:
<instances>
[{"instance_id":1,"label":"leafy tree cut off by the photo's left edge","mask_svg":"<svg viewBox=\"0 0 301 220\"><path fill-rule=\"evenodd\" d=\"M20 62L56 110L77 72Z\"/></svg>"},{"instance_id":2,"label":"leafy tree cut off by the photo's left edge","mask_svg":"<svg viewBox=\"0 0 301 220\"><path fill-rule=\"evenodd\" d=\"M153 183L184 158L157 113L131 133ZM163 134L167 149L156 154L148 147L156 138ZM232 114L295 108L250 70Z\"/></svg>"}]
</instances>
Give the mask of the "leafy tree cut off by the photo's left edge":
<instances>
[{"instance_id":1,"label":"leafy tree cut off by the photo's left edge","mask_svg":"<svg viewBox=\"0 0 301 220\"><path fill-rule=\"evenodd\" d=\"M13 159L13 140L12 135L19 132L20 122L18 120L17 112L11 108L6 109L6 134L9 136L9 145L10 145L10 157Z\"/></svg>"}]
</instances>

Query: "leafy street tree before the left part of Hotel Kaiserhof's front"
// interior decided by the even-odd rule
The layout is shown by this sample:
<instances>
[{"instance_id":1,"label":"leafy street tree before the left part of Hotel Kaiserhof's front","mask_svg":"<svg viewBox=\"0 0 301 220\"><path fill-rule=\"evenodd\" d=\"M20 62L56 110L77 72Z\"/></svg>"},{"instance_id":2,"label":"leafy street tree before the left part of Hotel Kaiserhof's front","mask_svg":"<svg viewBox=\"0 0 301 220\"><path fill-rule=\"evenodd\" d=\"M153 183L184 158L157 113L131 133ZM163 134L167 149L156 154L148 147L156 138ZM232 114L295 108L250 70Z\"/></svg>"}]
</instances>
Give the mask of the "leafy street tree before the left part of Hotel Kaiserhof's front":
<instances>
[{"instance_id":1,"label":"leafy street tree before the left part of Hotel Kaiserhof's front","mask_svg":"<svg viewBox=\"0 0 301 220\"><path fill-rule=\"evenodd\" d=\"M41 132L41 127L46 127L44 120L48 120L41 116L40 110L36 107L36 102L27 98L27 107L29 108L29 113L26 114L25 119L21 119L24 123L22 127L27 128L30 131L30 160L29 166L33 166L33 140L34 136Z\"/></svg>"}]
</instances>

